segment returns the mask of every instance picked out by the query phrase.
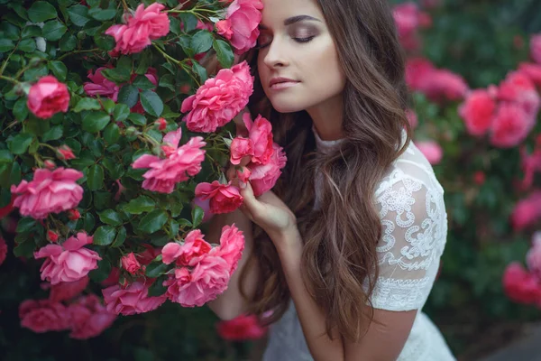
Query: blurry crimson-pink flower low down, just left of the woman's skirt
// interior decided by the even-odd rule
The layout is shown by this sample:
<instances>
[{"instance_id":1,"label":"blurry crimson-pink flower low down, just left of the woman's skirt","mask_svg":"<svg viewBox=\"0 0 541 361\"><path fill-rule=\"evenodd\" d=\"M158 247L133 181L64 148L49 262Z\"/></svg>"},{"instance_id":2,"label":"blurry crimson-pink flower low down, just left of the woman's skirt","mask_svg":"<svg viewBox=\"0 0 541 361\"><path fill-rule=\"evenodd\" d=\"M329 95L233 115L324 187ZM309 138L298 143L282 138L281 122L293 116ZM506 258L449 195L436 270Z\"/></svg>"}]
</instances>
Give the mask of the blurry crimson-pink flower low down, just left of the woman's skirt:
<instances>
[{"instance_id":1,"label":"blurry crimson-pink flower low down, just left of the woman's skirt","mask_svg":"<svg viewBox=\"0 0 541 361\"><path fill-rule=\"evenodd\" d=\"M267 333L267 328L260 325L255 315L241 315L220 321L216 324L216 330L221 338L228 341L259 339Z\"/></svg>"}]
</instances>

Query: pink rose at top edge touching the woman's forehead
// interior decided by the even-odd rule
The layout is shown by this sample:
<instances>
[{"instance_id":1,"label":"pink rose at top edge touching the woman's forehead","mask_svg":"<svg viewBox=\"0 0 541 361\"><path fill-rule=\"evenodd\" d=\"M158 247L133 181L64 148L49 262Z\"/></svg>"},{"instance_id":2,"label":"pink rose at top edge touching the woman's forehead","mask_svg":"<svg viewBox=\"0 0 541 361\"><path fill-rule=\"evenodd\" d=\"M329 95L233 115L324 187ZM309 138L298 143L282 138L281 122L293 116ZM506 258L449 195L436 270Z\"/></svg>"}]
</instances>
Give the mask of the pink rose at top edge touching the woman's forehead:
<instances>
[{"instance_id":1,"label":"pink rose at top edge touching the woman's forehead","mask_svg":"<svg viewBox=\"0 0 541 361\"><path fill-rule=\"evenodd\" d=\"M231 42L237 54L255 46L262 8L261 0L234 0L227 8L225 20L216 23L218 33Z\"/></svg>"}]
</instances>

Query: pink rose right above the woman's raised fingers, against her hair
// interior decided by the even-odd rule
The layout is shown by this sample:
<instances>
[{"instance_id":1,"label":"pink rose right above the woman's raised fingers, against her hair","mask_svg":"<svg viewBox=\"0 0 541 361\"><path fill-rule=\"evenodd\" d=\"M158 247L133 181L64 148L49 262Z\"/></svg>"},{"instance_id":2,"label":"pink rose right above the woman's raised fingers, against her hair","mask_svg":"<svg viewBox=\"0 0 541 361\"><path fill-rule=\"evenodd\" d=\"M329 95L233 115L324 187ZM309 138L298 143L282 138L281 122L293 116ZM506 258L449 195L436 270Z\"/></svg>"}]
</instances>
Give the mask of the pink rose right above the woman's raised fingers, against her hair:
<instances>
[{"instance_id":1,"label":"pink rose right above the woman's raised fingers, against her hair","mask_svg":"<svg viewBox=\"0 0 541 361\"><path fill-rule=\"evenodd\" d=\"M277 143L273 143L272 148L274 153L267 164L250 163L247 165L252 171L250 184L252 184L253 194L256 197L274 187L280 178L281 169L286 166L287 158L282 148Z\"/></svg>"}]
</instances>

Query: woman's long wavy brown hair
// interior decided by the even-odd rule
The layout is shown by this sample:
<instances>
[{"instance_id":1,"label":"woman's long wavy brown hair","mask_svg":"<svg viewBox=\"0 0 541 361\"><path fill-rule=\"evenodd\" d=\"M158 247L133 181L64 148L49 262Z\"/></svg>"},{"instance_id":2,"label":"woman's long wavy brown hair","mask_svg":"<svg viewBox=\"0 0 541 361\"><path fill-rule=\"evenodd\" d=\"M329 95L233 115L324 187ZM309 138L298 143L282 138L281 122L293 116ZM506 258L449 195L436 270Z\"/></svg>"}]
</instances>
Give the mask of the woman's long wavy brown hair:
<instances>
[{"instance_id":1,"label":"woman's long wavy brown hair","mask_svg":"<svg viewBox=\"0 0 541 361\"><path fill-rule=\"evenodd\" d=\"M409 143L405 115L409 97L404 57L388 0L317 0L334 38L347 79L344 88L344 141L331 153L317 153L312 121L305 111L276 112L264 96L252 57L255 91L252 113L272 123L275 141L288 163L274 191L298 219L304 241L301 270L311 296L326 313L326 332L337 329L358 340L372 320L370 295L378 277L376 245L381 220L374 191L391 162ZM403 129L407 140L401 144ZM315 172L323 181L314 208ZM251 262L259 262L252 311L273 310L280 319L289 289L280 259L261 228L254 231ZM244 267L241 282L250 264ZM245 293L244 293L245 294Z\"/></svg>"}]
</instances>

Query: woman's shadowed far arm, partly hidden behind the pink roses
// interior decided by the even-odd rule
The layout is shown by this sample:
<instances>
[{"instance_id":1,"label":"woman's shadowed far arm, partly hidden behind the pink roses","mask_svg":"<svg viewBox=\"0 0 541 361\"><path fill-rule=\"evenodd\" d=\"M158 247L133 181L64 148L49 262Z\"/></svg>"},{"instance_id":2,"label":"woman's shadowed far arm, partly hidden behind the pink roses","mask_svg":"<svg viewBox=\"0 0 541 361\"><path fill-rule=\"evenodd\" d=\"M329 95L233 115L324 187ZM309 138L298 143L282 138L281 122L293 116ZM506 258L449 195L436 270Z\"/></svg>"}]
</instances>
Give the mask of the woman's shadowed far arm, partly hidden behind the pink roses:
<instances>
[{"instance_id":1,"label":"woman's shadowed far arm, partly hidden behind the pink roses","mask_svg":"<svg viewBox=\"0 0 541 361\"><path fill-rule=\"evenodd\" d=\"M235 210L232 213L215 215L210 220L208 232L206 238L211 243L218 243L222 231L222 227L225 225L235 224L240 230L243 231L245 245L243 251L243 257L239 261L236 271L233 273L227 290L220 294L214 301L208 302L208 307L215 312L220 319L234 319L237 316L245 313L248 310L248 303L243 298L240 291L240 275L243 272L244 266L252 253L253 236L252 236L252 222L243 215L240 210ZM246 277L243 289L249 296L252 296L255 292L257 283L257 263L250 264L251 268Z\"/></svg>"}]
</instances>

